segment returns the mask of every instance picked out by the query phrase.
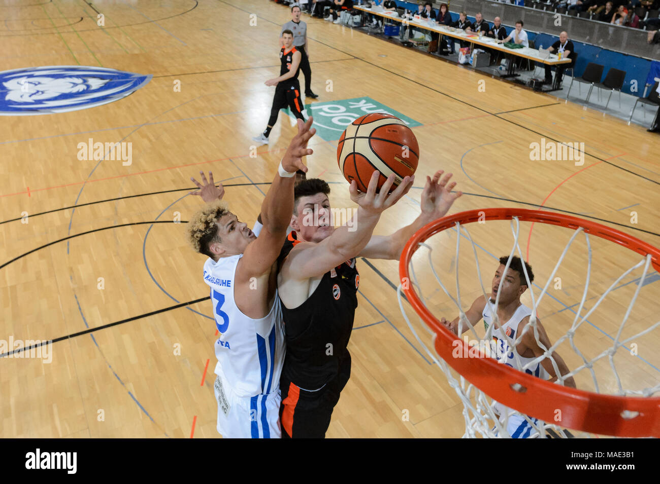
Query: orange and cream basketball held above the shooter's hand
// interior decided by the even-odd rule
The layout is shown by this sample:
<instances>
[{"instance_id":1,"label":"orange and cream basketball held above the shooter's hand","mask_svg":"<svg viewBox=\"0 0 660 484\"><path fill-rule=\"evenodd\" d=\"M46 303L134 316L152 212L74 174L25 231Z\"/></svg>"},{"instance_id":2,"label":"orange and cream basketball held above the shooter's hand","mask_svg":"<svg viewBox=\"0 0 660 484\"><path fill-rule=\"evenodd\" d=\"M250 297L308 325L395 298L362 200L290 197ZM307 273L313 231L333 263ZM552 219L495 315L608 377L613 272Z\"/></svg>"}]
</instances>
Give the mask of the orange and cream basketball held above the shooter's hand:
<instances>
[{"instance_id":1,"label":"orange and cream basketball held above the shooter's hand","mask_svg":"<svg viewBox=\"0 0 660 484\"><path fill-rule=\"evenodd\" d=\"M339 138L337 163L348 182L355 180L366 192L369 180L378 170L378 190L395 175L392 192L405 176L417 169L419 146L413 130L401 119L382 113L364 115L349 124Z\"/></svg>"}]
</instances>

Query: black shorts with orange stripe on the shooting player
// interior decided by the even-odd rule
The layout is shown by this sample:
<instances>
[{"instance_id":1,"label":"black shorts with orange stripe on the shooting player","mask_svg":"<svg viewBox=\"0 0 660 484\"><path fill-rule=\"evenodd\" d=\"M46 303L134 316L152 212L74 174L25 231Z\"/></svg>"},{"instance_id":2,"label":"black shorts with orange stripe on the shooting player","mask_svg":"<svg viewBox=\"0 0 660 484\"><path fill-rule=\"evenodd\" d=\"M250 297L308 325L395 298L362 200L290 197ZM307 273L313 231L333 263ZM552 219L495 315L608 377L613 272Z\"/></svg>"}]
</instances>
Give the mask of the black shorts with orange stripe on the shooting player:
<instances>
[{"instance_id":1,"label":"black shorts with orange stripe on the shooting player","mask_svg":"<svg viewBox=\"0 0 660 484\"><path fill-rule=\"evenodd\" d=\"M280 379L282 439L323 439L330 425L339 394L350 378L350 354L341 362L339 373L316 391L303 390L284 377Z\"/></svg>"}]
</instances>

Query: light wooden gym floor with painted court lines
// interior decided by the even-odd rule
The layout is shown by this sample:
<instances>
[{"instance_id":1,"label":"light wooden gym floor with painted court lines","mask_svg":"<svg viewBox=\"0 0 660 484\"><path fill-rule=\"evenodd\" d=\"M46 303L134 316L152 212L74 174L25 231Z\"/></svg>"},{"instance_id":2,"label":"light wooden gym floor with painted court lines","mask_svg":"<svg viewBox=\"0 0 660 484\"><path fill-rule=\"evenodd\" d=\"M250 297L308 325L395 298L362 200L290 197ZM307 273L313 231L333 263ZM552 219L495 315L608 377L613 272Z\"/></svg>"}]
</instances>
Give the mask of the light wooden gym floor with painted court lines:
<instances>
[{"instance_id":1,"label":"light wooden gym floor with painted court lines","mask_svg":"<svg viewBox=\"0 0 660 484\"><path fill-rule=\"evenodd\" d=\"M94 10L104 14L104 28ZM249 156L251 137L268 119L274 90L263 82L277 75L288 9L267 0L0 0L0 19L0 70L88 65L153 75L134 94L100 107L0 118L0 338L55 340L90 330L54 342L51 363L1 360L0 435L219 437L211 304L187 304L208 296L204 257L185 244L185 225L174 222L199 208L199 198L187 192L190 176L200 170L223 181L225 199L240 219L256 219L294 134L281 114L271 144ZM417 188L383 215L377 233L412 221L424 176L444 169L465 192L453 211L543 206L603 219L660 244L657 134L350 28L303 20L318 102L366 95L422 124L414 128L421 152ZM332 92L325 90L327 80ZM79 161L77 145L88 138L131 142L133 163ZM584 143L584 164L531 161L529 145L541 138ZM333 206L352 206L337 169L336 142L315 138L312 146L309 175L333 183ZM24 212L28 223L22 223ZM498 222L469 229L480 245L488 288L494 256L512 247L511 229ZM531 232L528 257L540 286L570 235L539 224ZM523 254L528 236L523 225ZM444 250L436 250L434 260L451 288L453 239L438 237L434 246ZM612 243L592 244L591 288L602 291L635 258ZM464 244L464 309L479 294L473 259ZM539 308L553 341L572 323L586 260L580 237L557 274L562 288L553 283ZM358 267L352 377L327 436L461 436L462 406L401 316L393 288L397 262L360 260ZM457 309L428 268L418 267L428 304L454 317ZM649 277L624 336L657 321L657 273ZM599 317L589 318L580 340L585 354L593 358L611 344L634 288L613 291ZM658 342L656 330L640 342L638 358L617 354L624 386L657 385ZM578 364L568 344L559 351L572 367ZM602 370L601 391L616 391L609 364ZM593 387L588 373L577 379L580 387Z\"/></svg>"}]
</instances>

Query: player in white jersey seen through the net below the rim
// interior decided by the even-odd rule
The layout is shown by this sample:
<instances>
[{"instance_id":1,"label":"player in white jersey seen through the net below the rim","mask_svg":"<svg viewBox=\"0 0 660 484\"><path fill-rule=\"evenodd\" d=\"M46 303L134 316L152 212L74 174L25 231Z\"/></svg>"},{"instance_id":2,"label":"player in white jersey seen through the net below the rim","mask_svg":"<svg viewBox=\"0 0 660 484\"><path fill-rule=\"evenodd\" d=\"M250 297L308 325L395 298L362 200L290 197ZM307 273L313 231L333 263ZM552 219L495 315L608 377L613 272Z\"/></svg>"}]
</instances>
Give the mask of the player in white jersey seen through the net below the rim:
<instances>
[{"instance_id":1,"label":"player in white jersey seen through the net below the rim","mask_svg":"<svg viewBox=\"0 0 660 484\"><path fill-rule=\"evenodd\" d=\"M509 365L517 370L534 375L535 377L550 379L556 381L557 375L552 367L550 358L545 358L541 362L534 363L529 367L525 367L527 363L532 362L545 352L539 345L539 341L545 348L550 348L552 344L548 335L546 335L541 321L537 319L537 329L539 332L539 341L534 336L534 331L530 327L525 331L523 338L519 344L515 344L515 340L520 336L525 325L529 323L529 316L532 313L530 308L523 306L520 302L520 296L527 290L527 281L525 273L523 272L523 262L517 256L513 256L508 271L504 274L504 269L509 257L500 257L500 267L495 271L495 277L492 281L492 293L488 300L484 296L480 296L473 302L470 309L465 311L470 324L475 326L479 323L480 319L484 320L484 327L486 332L489 327L492 327L492 338L494 340L494 353L498 360L504 360L504 364ZM525 262L525 269L529 276L529 282L534 281L534 274L532 268ZM495 301L498 297L498 306L495 306ZM497 314L500 323L493 322L493 315ZM449 322L445 318L441 322L453 333L458 334L459 318ZM467 323L463 323L462 332L469 331ZM552 360L556 362L561 375L566 375L569 370L557 352L552 352ZM564 385L567 387L576 387L573 377L564 379ZM530 437L533 432L533 423L537 423L537 419L523 416L507 408L506 406L496 402L493 410L500 417L502 423L506 422L506 429L508 434L514 439L525 439Z\"/></svg>"}]
</instances>

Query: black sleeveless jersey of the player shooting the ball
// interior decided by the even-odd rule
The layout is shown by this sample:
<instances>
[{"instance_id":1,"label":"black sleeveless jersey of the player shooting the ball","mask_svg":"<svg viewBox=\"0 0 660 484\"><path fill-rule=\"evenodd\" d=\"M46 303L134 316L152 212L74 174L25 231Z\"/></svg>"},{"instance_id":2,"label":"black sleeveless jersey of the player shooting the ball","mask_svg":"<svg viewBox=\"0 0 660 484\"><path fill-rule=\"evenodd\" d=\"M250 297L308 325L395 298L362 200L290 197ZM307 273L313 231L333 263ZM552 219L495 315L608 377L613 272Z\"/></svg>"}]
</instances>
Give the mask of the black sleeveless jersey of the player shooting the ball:
<instances>
[{"instance_id":1,"label":"black sleeveless jersey of the player shooting the ball","mask_svg":"<svg viewBox=\"0 0 660 484\"><path fill-rule=\"evenodd\" d=\"M284 242L278 264L300 241L291 232ZM348 340L358 307L360 275L355 259L345 261L325 273L321 282L298 308L282 304L286 356L282 379L306 389L316 390L337 377L348 360Z\"/></svg>"}]
</instances>

